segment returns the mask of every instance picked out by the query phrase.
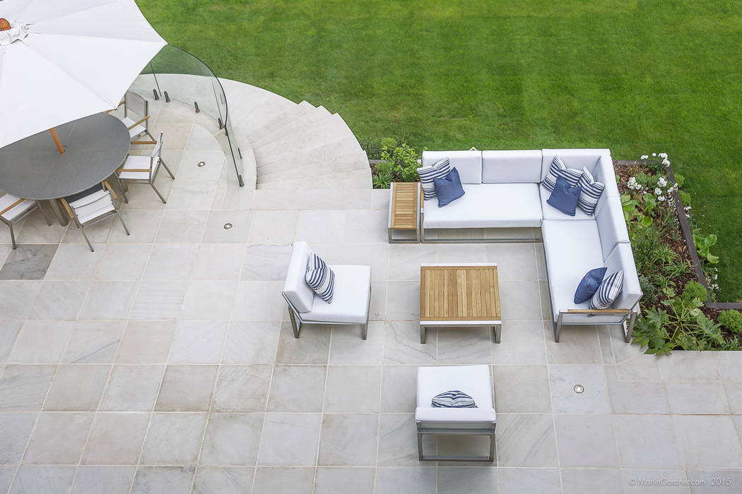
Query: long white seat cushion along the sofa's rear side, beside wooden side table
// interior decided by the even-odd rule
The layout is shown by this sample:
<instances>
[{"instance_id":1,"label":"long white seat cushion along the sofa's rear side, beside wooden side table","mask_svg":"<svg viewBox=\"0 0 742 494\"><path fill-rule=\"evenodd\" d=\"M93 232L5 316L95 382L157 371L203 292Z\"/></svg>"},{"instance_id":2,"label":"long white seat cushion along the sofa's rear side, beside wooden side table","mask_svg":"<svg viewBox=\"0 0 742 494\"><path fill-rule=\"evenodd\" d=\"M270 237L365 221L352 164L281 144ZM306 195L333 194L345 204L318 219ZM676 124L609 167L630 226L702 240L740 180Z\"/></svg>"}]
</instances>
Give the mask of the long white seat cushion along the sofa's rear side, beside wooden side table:
<instances>
[{"instance_id":1,"label":"long white seat cushion along the sofa's rear side, beside wooden side table","mask_svg":"<svg viewBox=\"0 0 742 494\"><path fill-rule=\"evenodd\" d=\"M539 227L542 221L538 184L464 184L464 196L444 207L424 203L423 227ZM551 207L551 206L549 206Z\"/></svg>"}]
</instances>

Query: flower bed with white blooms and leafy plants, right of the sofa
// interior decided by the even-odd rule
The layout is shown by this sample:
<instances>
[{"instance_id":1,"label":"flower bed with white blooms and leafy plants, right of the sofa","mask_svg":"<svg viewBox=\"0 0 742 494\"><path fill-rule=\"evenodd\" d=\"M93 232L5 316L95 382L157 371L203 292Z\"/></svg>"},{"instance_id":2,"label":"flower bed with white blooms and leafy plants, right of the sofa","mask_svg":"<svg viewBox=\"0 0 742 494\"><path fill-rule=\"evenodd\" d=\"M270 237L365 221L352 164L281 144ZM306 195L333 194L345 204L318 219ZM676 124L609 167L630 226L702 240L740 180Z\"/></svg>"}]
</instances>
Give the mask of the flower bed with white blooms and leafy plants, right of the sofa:
<instances>
[{"instance_id":1,"label":"flower bed with white blooms and leafy plants, right of the sofa","mask_svg":"<svg viewBox=\"0 0 742 494\"><path fill-rule=\"evenodd\" d=\"M646 353L742 350L742 313L721 310L715 306L724 304L713 303L719 259L711 250L717 239L692 228L690 196L682 190L684 178L673 175L665 153L617 164L624 216L644 293L634 343L646 346ZM689 246L686 237L691 233Z\"/></svg>"}]
</instances>

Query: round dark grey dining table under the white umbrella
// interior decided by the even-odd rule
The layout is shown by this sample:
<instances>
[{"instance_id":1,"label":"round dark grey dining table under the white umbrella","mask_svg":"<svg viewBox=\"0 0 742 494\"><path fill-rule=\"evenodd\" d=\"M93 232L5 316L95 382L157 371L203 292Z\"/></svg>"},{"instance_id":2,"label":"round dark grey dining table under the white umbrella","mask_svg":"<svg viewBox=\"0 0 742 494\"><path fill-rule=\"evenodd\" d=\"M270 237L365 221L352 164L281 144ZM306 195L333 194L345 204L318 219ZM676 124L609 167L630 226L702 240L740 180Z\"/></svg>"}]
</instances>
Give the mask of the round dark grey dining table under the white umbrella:
<instances>
[{"instance_id":1,"label":"round dark grey dining table under the white umbrella","mask_svg":"<svg viewBox=\"0 0 742 494\"><path fill-rule=\"evenodd\" d=\"M56 127L65 153L59 154L48 131L0 148L0 189L24 199L50 200L82 192L114 174L128 156L131 136L126 125L108 113Z\"/></svg>"}]
</instances>

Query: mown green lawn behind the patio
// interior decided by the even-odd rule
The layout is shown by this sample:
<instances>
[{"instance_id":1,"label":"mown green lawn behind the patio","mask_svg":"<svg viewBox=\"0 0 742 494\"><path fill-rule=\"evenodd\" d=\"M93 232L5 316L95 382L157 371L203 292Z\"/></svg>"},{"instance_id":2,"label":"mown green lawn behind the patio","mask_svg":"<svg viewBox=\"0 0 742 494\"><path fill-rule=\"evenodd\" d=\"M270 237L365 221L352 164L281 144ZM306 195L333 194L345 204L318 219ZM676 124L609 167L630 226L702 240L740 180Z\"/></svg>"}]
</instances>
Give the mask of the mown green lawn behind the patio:
<instances>
[{"instance_id":1,"label":"mown green lawn behind the patio","mask_svg":"<svg viewBox=\"0 0 742 494\"><path fill-rule=\"evenodd\" d=\"M741 1L138 0L221 77L416 147L666 152L742 298Z\"/></svg>"}]
</instances>

